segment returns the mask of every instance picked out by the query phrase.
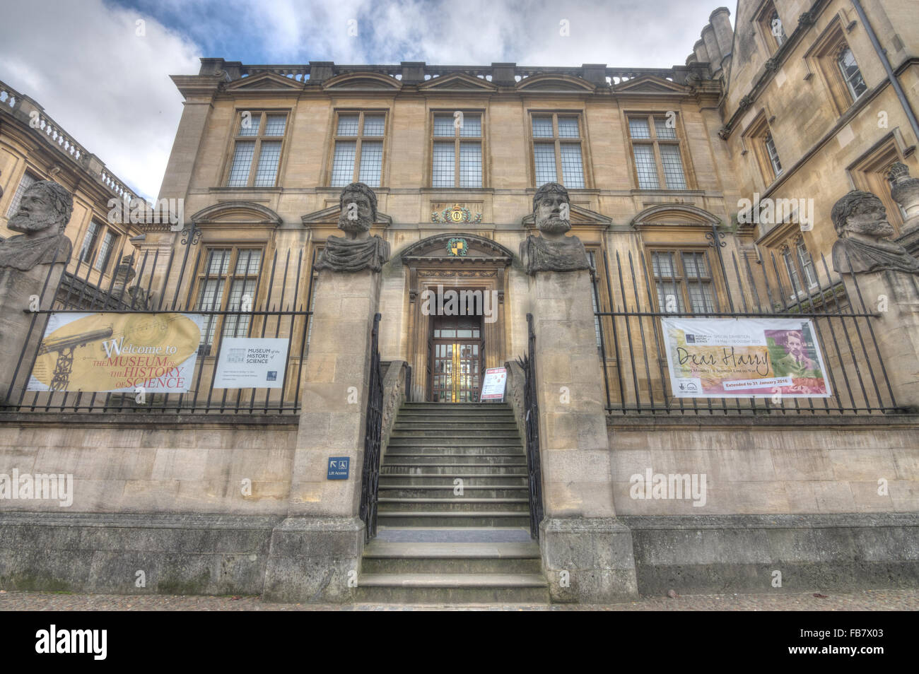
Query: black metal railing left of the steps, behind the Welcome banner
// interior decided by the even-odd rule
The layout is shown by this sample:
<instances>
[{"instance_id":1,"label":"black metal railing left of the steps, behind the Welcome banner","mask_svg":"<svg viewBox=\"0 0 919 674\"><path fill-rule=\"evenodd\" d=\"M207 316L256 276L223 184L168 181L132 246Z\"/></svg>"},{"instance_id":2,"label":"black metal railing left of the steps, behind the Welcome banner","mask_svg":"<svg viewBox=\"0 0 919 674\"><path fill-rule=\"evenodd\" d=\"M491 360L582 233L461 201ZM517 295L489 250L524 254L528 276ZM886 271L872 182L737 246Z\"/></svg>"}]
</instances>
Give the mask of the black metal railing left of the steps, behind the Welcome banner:
<instances>
[{"instance_id":1,"label":"black metal railing left of the steps, behind the Welcome banner","mask_svg":"<svg viewBox=\"0 0 919 674\"><path fill-rule=\"evenodd\" d=\"M301 364L307 348L307 321L312 315L305 309L312 295L312 275L309 283L306 281L305 253L276 249L267 258L264 250L252 246L245 250L255 252L246 253L248 257L241 262L239 253L230 246L212 250L199 246L192 263L189 248L196 246L197 240L186 239L183 245L181 268L174 268L176 248L168 259L159 251L144 252L138 260L122 258L121 250L114 257L120 264L108 264L108 274L104 273L106 264L96 264L96 268L92 258L77 258L62 275L61 283L43 292L49 301L42 301L41 306L48 309L34 312L26 345L11 365L15 370L12 383L0 391L0 395L5 394L0 411L299 412ZM48 345L40 347L49 315L81 313L105 313L113 318L123 314L195 317L200 323L200 342L186 391L144 392L142 386L130 392L123 387L119 391L81 390L78 379L72 381L75 377L67 365L85 343L58 350L53 366L55 373L61 372L48 390L28 390L30 383L31 388L42 388L30 374L38 357L49 352ZM224 340L231 337L286 340L284 372L278 372L272 388L214 388L221 349ZM99 347L97 339L90 344L90 348Z\"/></svg>"}]
</instances>

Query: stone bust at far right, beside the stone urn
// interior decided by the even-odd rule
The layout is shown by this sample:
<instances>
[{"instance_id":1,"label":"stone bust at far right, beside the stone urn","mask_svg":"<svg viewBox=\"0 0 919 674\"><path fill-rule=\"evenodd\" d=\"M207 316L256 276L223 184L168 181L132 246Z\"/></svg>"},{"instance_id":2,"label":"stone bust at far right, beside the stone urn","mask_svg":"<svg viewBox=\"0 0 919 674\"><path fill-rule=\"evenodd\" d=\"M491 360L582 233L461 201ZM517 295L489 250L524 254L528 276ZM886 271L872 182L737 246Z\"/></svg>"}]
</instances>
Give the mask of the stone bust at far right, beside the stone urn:
<instances>
[{"instance_id":1,"label":"stone bust at far right, beside the stone urn","mask_svg":"<svg viewBox=\"0 0 919 674\"><path fill-rule=\"evenodd\" d=\"M838 274L897 271L919 274L919 260L899 243L887 209L870 192L853 190L834 204L831 212L839 241L833 245L833 266Z\"/></svg>"}]
</instances>

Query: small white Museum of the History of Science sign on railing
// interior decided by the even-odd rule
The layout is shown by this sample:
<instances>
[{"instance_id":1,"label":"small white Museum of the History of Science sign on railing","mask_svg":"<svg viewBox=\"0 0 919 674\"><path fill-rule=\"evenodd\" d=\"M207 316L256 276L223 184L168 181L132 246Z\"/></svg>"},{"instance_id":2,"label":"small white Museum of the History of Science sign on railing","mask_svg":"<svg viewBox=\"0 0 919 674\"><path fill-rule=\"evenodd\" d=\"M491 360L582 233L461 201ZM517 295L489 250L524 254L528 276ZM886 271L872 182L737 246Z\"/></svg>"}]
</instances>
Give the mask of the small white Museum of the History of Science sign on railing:
<instances>
[{"instance_id":1,"label":"small white Museum of the History of Science sign on railing","mask_svg":"<svg viewBox=\"0 0 919 674\"><path fill-rule=\"evenodd\" d=\"M281 388L288 340L224 337L214 388Z\"/></svg>"}]
</instances>

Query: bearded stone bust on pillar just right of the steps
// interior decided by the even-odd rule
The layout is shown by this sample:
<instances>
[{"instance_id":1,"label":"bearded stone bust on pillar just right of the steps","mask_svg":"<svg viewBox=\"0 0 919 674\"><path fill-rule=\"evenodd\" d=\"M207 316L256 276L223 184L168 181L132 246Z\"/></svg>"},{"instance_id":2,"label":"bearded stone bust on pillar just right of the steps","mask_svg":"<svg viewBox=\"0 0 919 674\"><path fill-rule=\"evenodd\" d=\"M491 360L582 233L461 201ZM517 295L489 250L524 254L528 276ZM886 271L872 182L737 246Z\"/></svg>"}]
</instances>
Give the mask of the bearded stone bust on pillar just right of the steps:
<instances>
[{"instance_id":1,"label":"bearded stone bust on pillar just right of the steps","mask_svg":"<svg viewBox=\"0 0 919 674\"><path fill-rule=\"evenodd\" d=\"M528 236L520 243L520 258L528 275L590 269L584 243L576 236L565 236L572 229L569 208L568 190L558 183L546 183L533 195L533 217L540 236Z\"/></svg>"}]
</instances>

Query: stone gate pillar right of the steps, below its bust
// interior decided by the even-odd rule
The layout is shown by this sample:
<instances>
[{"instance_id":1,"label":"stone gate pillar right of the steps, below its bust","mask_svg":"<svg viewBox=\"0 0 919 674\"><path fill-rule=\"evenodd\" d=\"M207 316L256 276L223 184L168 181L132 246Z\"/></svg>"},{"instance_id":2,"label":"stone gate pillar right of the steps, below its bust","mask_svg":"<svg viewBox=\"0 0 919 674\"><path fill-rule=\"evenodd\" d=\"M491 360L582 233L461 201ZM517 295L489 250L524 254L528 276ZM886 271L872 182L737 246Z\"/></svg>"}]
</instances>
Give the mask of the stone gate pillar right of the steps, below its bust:
<instances>
[{"instance_id":1,"label":"stone gate pillar right of the steps, below its bust","mask_svg":"<svg viewBox=\"0 0 919 674\"><path fill-rule=\"evenodd\" d=\"M552 601L634 597L631 532L613 508L589 272L537 272L530 298L545 508L539 535Z\"/></svg>"}]
</instances>

